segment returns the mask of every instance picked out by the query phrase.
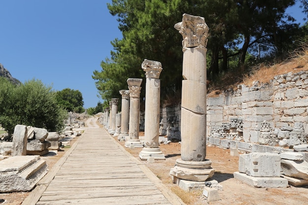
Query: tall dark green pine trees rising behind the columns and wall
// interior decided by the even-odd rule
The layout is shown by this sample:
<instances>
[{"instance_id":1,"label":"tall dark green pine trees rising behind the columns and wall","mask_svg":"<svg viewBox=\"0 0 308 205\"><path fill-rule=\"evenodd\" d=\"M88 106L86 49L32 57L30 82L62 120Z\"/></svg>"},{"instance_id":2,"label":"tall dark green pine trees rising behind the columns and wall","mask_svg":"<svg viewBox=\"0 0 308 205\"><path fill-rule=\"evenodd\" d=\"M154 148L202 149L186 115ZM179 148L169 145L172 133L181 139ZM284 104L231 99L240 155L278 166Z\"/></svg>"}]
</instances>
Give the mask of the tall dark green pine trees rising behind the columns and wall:
<instances>
[{"instance_id":1,"label":"tall dark green pine trees rising behind the columns and wall","mask_svg":"<svg viewBox=\"0 0 308 205\"><path fill-rule=\"evenodd\" d=\"M120 98L127 78L144 78L144 59L162 63L161 99L180 93L182 35L174 25L183 13L205 18L210 28L208 77L227 72L230 60L245 72L245 63L259 45L274 55L287 52L300 34L299 25L285 13L295 0L112 0L108 9L118 17L123 39L115 39L111 58L101 62L92 78L107 101ZM246 58L250 52L249 58ZM231 63L234 64L233 62ZM141 99L144 97L142 84Z\"/></svg>"}]
</instances>

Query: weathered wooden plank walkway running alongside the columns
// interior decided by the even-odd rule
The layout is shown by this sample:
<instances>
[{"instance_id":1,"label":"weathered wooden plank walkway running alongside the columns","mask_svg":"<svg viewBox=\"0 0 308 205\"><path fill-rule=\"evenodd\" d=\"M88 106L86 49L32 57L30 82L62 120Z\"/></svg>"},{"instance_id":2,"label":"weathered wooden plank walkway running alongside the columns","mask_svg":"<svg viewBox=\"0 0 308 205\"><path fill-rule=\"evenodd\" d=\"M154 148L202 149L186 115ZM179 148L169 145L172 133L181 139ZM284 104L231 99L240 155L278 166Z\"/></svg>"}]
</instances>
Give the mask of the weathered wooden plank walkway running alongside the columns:
<instances>
[{"instance_id":1,"label":"weathered wooden plank walkway running alongside the columns","mask_svg":"<svg viewBox=\"0 0 308 205\"><path fill-rule=\"evenodd\" d=\"M184 205L104 129L87 128L22 205Z\"/></svg>"}]
</instances>

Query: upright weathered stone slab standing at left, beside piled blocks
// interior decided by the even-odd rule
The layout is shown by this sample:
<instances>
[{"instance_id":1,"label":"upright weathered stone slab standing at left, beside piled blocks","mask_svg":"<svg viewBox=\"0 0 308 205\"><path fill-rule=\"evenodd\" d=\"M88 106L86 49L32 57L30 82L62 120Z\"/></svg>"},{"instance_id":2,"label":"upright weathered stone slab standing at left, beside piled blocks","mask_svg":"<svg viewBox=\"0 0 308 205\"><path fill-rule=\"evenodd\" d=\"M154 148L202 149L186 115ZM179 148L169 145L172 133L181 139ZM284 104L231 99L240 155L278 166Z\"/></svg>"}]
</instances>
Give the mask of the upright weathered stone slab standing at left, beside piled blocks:
<instances>
[{"instance_id":1,"label":"upright weathered stone slab standing at left, beside piled blocks","mask_svg":"<svg viewBox=\"0 0 308 205\"><path fill-rule=\"evenodd\" d=\"M14 128L12 156L27 155L27 126L18 124Z\"/></svg>"}]
</instances>

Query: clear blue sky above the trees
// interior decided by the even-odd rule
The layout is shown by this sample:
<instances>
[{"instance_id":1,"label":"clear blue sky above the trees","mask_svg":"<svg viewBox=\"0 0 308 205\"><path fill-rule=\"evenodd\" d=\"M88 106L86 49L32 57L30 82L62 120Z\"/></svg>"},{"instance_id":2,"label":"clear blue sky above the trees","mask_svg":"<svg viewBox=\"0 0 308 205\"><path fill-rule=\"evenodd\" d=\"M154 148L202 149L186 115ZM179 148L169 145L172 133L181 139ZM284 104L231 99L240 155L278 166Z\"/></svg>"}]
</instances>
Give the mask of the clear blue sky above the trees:
<instances>
[{"instance_id":1,"label":"clear blue sky above the trees","mask_svg":"<svg viewBox=\"0 0 308 205\"><path fill-rule=\"evenodd\" d=\"M35 78L55 90L77 89L84 107L95 107L102 100L93 71L110 57L110 42L122 38L107 2L0 0L0 63L23 83ZM305 17L298 6L288 13Z\"/></svg>"}]
</instances>

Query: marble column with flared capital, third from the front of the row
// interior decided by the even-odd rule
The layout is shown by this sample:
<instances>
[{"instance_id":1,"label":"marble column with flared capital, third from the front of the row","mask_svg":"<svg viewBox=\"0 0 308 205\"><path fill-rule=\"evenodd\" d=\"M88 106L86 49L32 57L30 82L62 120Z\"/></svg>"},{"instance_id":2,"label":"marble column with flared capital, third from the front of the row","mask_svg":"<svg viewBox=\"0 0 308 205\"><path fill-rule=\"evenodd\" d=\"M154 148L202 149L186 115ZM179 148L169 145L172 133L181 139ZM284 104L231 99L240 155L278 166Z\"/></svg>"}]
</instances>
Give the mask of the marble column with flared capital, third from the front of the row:
<instances>
[{"instance_id":1,"label":"marble column with flared capital, third from the front of the row","mask_svg":"<svg viewBox=\"0 0 308 205\"><path fill-rule=\"evenodd\" d=\"M142 79L128 78L129 89L129 139L125 142L125 147L133 145L134 147L143 147L139 140L140 124L140 90Z\"/></svg>"}]
</instances>

